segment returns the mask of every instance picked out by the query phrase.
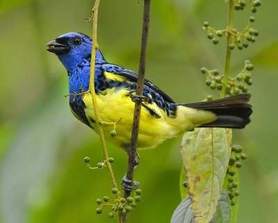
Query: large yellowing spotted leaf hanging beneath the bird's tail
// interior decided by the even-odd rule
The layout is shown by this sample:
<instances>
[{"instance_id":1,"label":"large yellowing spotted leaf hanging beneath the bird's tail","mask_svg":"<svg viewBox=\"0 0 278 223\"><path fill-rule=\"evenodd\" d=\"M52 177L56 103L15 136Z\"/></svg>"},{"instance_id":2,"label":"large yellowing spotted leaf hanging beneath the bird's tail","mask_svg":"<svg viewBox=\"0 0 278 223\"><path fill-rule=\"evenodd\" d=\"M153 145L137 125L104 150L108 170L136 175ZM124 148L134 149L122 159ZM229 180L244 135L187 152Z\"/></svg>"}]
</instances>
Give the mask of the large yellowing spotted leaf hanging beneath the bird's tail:
<instances>
[{"instance_id":1,"label":"large yellowing spotted leaf hanging beneath the bird's tail","mask_svg":"<svg viewBox=\"0 0 278 223\"><path fill-rule=\"evenodd\" d=\"M183 135L181 157L197 223L210 222L215 213L230 154L230 129L200 128Z\"/></svg>"}]
</instances>

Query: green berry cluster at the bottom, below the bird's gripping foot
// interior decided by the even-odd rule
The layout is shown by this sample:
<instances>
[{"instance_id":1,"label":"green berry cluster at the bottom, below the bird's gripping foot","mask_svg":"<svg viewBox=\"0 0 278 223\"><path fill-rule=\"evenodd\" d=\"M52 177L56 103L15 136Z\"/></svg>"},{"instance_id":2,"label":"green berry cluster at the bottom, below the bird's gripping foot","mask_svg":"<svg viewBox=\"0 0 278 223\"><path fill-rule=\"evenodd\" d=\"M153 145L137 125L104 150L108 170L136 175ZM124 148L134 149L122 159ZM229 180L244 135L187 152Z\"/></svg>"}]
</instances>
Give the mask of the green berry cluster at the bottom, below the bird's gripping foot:
<instances>
[{"instance_id":1,"label":"green berry cluster at the bottom, below the bird's gripping foot","mask_svg":"<svg viewBox=\"0 0 278 223\"><path fill-rule=\"evenodd\" d=\"M112 189L113 194L117 194L117 188ZM126 215L126 213L131 212L132 208L135 208L137 206L137 203L141 201L140 194L142 191L140 189L136 190L136 192L133 194L133 197L128 198L120 198L120 200L116 200L117 204L110 203L109 197L105 196L103 198L104 203L101 199L97 199L97 204L99 204L99 208L96 209L97 214L102 213L102 209L104 206L112 206L111 213L108 214L109 218L113 218L115 213L119 211L122 213L122 215Z\"/></svg>"}]
</instances>

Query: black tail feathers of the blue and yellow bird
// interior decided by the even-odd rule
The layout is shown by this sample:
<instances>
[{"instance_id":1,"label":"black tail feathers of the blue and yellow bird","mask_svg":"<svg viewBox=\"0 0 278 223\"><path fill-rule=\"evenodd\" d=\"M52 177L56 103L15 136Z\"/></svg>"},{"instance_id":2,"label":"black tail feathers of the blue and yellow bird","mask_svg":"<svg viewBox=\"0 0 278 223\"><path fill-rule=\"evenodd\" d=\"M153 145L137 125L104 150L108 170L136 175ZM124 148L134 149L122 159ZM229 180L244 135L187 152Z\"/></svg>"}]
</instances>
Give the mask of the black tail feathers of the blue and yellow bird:
<instances>
[{"instance_id":1,"label":"black tail feathers of the blue and yellow bird","mask_svg":"<svg viewBox=\"0 0 278 223\"><path fill-rule=\"evenodd\" d=\"M184 106L204 109L216 114L215 121L199 127L245 128L245 125L251 121L252 106L247 104L250 98L250 93L242 93L229 98L185 104Z\"/></svg>"}]
</instances>

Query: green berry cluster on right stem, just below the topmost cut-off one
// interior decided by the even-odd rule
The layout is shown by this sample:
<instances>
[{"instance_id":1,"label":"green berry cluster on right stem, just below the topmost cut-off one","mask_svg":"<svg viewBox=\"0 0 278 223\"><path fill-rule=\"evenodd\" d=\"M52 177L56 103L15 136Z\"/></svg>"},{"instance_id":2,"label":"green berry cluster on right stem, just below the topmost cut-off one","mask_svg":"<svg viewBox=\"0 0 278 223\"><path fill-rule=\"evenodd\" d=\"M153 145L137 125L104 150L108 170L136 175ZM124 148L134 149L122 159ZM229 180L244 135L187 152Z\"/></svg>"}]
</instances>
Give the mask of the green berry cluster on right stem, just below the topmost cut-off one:
<instances>
[{"instance_id":1,"label":"green berry cluster on right stem, just below the topmost cut-off one","mask_svg":"<svg viewBox=\"0 0 278 223\"><path fill-rule=\"evenodd\" d=\"M219 43L219 38L224 36L227 38L228 34L231 35L231 43L229 44L229 49L247 48L249 46L248 42L254 43L256 41L256 36L259 36L259 31L254 28L250 28L252 22L255 22L254 17L250 17L247 27L240 33L237 29L224 29L216 30L209 25L208 22L204 22L203 29L207 31L207 37L213 40L214 44Z\"/></svg>"}]
</instances>

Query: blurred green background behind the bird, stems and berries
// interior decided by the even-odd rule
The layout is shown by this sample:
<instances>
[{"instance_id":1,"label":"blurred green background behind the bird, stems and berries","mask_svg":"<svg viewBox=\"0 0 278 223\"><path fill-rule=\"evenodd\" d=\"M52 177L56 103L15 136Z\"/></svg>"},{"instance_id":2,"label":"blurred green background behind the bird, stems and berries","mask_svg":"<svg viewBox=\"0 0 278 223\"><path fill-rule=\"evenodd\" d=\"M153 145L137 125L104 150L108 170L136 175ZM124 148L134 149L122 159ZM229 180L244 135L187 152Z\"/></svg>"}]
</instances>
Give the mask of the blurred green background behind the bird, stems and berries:
<instances>
[{"instance_id":1,"label":"blurred green background behind the bird, stems and berries","mask_svg":"<svg viewBox=\"0 0 278 223\"><path fill-rule=\"evenodd\" d=\"M107 171L90 171L102 160L97 135L72 116L68 107L67 72L44 47L70 31L91 36L94 1L2 0L0 14L0 222L117 222L108 208L95 214L95 200L112 197ZM262 1L254 22L256 43L232 54L232 73L245 59L255 65L250 87L252 123L234 131L234 143L249 156L240 169L238 223L278 219L278 1ZM99 47L107 61L138 70L142 6L137 0L101 1ZM227 24L223 0L160 0L152 2L146 77L177 102L203 100L211 91L199 70L224 67L224 40L215 46L202 24ZM243 29L249 6L235 12ZM142 201L128 222L170 222L180 202L181 137L152 150L140 151L135 172ZM110 144L117 183L126 172L127 156Z\"/></svg>"}]
</instances>

